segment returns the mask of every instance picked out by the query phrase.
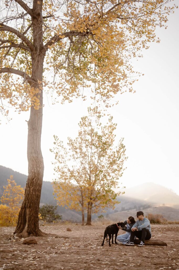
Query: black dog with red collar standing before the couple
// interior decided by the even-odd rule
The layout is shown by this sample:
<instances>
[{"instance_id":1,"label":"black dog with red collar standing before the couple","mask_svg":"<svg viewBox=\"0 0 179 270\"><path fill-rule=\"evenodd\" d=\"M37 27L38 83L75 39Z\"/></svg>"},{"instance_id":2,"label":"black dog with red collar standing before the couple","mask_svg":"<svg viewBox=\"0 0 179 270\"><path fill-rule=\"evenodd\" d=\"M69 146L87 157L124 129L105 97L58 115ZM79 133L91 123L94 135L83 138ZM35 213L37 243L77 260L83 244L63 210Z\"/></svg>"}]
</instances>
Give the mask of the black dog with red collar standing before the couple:
<instances>
[{"instance_id":1,"label":"black dog with red collar standing before the couple","mask_svg":"<svg viewBox=\"0 0 179 270\"><path fill-rule=\"evenodd\" d=\"M106 241L108 243L108 235L109 235L109 247L111 247L111 244L110 244L111 235L112 235L112 244L114 244L114 242L113 242L114 234L115 234L115 244L117 244L116 238L117 238L117 233L119 231L119 226L121 226L121 228L123 228L123 229L126 229L126 225L123 222L118 222L116 224L112 224L112 225L109 225L108 227L106 227L105 232L104 232L104 239L102 242L102 247L104 245L105 238L106 238Z\"/></svg>"}]
</instances>

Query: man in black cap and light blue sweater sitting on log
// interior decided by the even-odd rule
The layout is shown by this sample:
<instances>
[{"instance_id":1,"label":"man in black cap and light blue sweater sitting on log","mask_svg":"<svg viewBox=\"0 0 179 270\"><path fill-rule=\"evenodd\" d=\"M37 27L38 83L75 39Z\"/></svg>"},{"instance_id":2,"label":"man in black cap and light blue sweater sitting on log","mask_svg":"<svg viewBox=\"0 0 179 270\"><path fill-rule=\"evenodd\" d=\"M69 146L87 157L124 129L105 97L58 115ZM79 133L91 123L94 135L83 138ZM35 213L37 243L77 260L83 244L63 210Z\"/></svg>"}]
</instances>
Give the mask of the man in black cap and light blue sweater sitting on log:
<instances>
[{"instance_id":1,"label":"man in black cap and light blue sweater sitting on log","mask_svg":"<svg viewBox=\"0 0 179 270\"><path fill-rule=\"evenodd\" d=\"M145 240L151 239L151 224L148 218L144 217L144 213L142 211L137 212L138 220L135 222L131 229L131 236L128 243L125 245L133 246L134 245L134 237L136 236L141 240L139 247L143 247Z\"/></svg>"}]
</instances>

